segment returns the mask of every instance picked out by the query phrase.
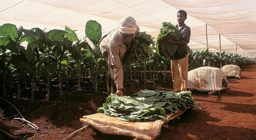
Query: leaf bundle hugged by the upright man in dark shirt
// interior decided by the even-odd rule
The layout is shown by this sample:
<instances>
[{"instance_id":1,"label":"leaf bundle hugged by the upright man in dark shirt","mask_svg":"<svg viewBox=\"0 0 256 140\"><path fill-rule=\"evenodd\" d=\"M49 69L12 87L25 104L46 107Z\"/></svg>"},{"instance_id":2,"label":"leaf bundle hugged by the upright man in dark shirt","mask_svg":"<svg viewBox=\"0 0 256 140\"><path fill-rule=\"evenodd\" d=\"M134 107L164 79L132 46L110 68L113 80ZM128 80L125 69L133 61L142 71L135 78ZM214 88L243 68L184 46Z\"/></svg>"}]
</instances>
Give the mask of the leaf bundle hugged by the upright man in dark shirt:
<instances>
[{"instance_id":1,"label":"leaf bundle hugged by the upright man in dark shirt","mask_svg":"<svg viewBox=\"0 0 256 140\"><path fill-rule=\"evenodd\" d=\"M162 22L162 27L157 36L157 52L166 58L173 57L178 45L163 44L163 40L171 37L174 41L181 40L181 32L171 22Z\"/></svg>"}]
</instances>

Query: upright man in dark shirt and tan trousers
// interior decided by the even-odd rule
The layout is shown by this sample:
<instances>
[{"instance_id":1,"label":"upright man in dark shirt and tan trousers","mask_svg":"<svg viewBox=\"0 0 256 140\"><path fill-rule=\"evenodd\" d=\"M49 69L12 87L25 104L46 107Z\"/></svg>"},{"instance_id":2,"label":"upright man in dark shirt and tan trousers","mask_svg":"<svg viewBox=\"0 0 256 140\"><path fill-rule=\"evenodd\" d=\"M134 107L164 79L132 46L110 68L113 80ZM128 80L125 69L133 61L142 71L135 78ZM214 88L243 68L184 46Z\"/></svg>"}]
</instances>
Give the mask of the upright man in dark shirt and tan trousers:
<instances>
[{"instance_id":1,"label":"upright man in dark shirt and tan trousers","mask_svg":"<svg viewBox=\"0 0 256 140\"><path fill-rule=\"evenodd\" d=\"M187 91L188 85L188 52L187 44L190 41L190 28L184 24L187 19L187 12L179 10L177 13L178 24L176 27L179 29L182 35L182 39L174 41L172 38L164 39L164 43L177 44L178 48L171 58L172 68L172 81L174 92L178 93L181 91Z\"/></svg>"}]
</instances>

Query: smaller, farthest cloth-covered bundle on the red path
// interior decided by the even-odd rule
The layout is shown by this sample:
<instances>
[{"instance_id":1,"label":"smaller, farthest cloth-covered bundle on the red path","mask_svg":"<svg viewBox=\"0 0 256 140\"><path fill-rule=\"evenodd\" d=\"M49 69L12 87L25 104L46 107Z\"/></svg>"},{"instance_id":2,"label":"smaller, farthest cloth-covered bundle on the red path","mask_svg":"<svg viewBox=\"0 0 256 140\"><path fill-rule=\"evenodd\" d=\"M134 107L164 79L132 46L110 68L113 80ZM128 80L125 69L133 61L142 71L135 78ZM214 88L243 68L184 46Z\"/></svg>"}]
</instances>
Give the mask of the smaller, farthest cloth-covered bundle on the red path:
<instances>
[{"instance_id":1,"label":"smaller, farthest cloth-covered bundle on the red path","mask_svg":"<svg viewBox=\"0 0 256 140\"><path fill-rule=\"evenodd\" d=\"M226 77L235 77L240 79L241 78L241 69L239 66L236 65L225 65L221 68L224 72Z\"/></svg>"}]
</instances>

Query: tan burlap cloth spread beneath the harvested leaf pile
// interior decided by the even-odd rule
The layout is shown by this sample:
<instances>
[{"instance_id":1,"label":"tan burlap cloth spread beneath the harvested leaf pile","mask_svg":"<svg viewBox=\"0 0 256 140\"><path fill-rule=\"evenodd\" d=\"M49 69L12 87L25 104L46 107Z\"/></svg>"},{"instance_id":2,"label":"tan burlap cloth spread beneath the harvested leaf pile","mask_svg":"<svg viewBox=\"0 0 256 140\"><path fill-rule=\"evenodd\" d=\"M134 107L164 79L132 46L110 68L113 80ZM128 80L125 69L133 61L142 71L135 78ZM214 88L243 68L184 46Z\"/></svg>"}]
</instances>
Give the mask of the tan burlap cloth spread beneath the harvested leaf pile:
<instances>
[{"instance_id":1,"label":"tan burlap cloth spread beneath the harvested leaf pile","mask_svg":"<svg viewBox=\"0 0 256 140\"><path fill-rule=\"evenodd\" d=\"M168 114L168 121L184 112L176 111L176 113ZM136 137L141 140L154 140L160 134L162 125L168 122L161 119L142 122L122 121L104 113L86 115L80 118L80 121L91 125L102 133Z\"/></svg>"}]
</instances>

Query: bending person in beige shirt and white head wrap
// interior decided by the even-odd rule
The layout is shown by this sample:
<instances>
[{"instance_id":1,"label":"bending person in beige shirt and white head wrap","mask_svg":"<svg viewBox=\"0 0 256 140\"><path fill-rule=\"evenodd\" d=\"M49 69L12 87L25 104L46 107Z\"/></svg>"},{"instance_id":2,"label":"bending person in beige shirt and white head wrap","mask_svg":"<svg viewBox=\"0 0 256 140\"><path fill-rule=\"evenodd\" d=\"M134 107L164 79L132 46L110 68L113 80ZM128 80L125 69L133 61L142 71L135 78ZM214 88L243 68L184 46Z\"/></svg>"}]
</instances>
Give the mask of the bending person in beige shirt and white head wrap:
<instances>
[{"instance_id":1,"label":"bending person in beige shirt and white head wrap","mask_svg":"<svg viewBox=\"0 0 256 140\"><path fill-rule=\"evenodd\" d=\"M120 20L119 27L109 32L100 44L101 53L108 63L108 77L111 77L108 87L111 87L111 93L118 96L123 95L122 59L138 32L136 20L131 16L125 16Z\"/></svg>"}]
</instances>

